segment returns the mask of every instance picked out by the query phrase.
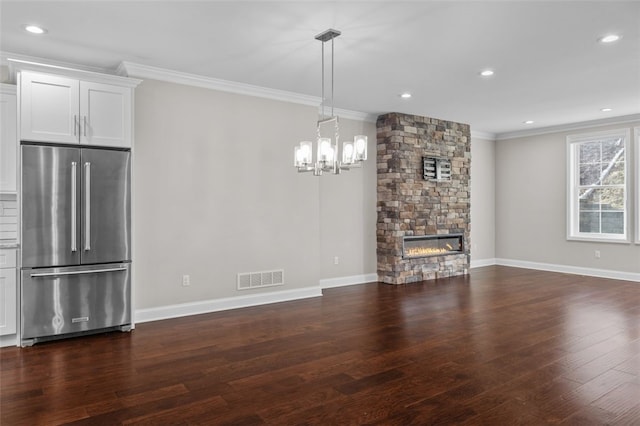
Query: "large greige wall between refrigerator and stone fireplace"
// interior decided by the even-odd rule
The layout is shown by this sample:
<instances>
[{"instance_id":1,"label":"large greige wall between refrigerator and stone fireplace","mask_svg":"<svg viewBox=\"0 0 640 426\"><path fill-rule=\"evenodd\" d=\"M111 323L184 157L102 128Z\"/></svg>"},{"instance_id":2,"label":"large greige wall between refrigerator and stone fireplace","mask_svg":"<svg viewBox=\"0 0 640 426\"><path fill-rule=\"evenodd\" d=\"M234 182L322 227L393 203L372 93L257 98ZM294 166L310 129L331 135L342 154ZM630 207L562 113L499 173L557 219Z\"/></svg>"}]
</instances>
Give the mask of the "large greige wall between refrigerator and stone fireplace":
<instances>
[{"instance_id":1,"label":"large greige wall between refrigerator and stone fireplace","mask_svg":"<svg viewBox=\"0 0 640 426\"><path fill-rule=\"evenodd\" d=\"M136 309L375 272L374 124L341 122L369 137L364 170L317 178L292 165L315 107L154 80L135 96ZM237 273L273 269L285 286L236 290Z\"/></svg>"}]
</instances>

